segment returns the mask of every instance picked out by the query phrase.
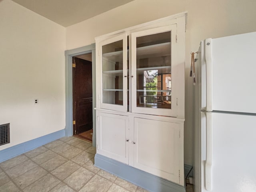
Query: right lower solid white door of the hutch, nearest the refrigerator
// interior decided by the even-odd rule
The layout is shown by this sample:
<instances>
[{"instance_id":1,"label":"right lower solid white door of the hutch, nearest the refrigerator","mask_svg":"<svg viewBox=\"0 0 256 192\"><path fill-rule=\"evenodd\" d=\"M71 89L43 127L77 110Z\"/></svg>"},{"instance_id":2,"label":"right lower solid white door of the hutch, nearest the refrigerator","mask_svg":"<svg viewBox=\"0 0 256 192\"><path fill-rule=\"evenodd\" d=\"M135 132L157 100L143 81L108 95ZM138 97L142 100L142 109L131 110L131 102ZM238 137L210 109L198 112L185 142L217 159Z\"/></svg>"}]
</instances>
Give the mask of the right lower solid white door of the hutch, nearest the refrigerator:
<instances>
[{"instance_id":1,"label":"right lower solid white door of the hutch, nearest the refrigerator","mask_svg":"<svg viewBox=\"0 0 256 192\"><path fill-rule=\"evenodd\" d=\"M183 143L180 141L183 142L180 124L134 118L134 167L181 183Z\"/></svg>"}]
</instances>

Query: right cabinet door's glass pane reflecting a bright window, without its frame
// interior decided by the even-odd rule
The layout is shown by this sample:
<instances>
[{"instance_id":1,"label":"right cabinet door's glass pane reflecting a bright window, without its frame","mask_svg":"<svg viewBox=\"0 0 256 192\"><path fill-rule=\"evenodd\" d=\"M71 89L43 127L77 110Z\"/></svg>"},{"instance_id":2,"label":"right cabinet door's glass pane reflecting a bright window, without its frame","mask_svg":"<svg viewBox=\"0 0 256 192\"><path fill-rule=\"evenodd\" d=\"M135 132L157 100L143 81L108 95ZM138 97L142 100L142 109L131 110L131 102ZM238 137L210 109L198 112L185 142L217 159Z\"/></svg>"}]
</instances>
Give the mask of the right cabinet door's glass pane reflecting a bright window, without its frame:
<instances>
[{"instance_id":1,"label":"right cabinet door's glass pane reflecting a bright window, without its frame","mask_svg":"<svg viewBox=\"0 0 256 192\"><path fill-rule=\"evenodd\" d=\"M137 107L171 108L171 32L136 38Z\"/></svg>"}]
</instances>

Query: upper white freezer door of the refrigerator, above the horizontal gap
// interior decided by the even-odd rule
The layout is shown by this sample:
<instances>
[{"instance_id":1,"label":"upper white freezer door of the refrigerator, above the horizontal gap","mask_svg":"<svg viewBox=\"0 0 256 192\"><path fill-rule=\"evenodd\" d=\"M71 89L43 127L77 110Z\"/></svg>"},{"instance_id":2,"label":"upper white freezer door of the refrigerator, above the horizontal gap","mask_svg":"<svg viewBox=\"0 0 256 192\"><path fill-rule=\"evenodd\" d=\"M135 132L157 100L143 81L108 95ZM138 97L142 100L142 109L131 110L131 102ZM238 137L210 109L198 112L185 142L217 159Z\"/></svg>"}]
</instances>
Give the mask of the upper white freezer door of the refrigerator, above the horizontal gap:
<instances>
[{"instance_id":1,"label":"upper white freezer door of the refrigerator, above the horizontal gap","mask_svg":"<svg viewBox=\"0 0 256 192\"><path fill-rule=\"evenodd\" d=\"M207 111L256 113L256 32L205 40Z\"/></svg>"}]
</instances>

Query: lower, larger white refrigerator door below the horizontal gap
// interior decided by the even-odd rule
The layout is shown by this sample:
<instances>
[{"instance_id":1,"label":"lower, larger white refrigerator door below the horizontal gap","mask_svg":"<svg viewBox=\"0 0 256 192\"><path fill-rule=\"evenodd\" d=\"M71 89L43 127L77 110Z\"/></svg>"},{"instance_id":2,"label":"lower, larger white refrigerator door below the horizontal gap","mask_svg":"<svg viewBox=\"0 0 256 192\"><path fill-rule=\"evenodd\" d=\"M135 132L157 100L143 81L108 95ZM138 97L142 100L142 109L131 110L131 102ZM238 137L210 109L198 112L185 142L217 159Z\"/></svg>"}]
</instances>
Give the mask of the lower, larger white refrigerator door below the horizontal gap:
<instances>
[{"instance_id":1,"label":"lower, larger white refrigerator door below the horizontal gap","mask_svg":"<svg viewBox=\"0 0 256 192\"><path fill-rule=\"evenodd\" d=\"M201 114L202 192L256 191L256 116Z\"/></svg>"}]
</instances>

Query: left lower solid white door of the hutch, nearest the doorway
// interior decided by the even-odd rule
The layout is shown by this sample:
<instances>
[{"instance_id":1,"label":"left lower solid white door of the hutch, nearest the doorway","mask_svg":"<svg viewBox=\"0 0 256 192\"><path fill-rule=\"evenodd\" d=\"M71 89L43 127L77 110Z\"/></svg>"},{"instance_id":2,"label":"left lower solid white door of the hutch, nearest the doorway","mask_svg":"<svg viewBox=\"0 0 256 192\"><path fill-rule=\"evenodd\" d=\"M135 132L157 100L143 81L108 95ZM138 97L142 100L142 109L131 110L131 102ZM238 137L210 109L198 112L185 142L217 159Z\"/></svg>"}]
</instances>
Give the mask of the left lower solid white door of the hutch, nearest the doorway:
<instances>
[{"instance_id":1,"label":"left lower solid white door of the hutch, nearest the doorway","mask_svg":"<svg viewBox=\"0 0 256 192\"><path fill-rule=\"evenodd\" d=\"M98 112L97 153L128 164L128 116Z\"/></svg>"}]
</instances>

